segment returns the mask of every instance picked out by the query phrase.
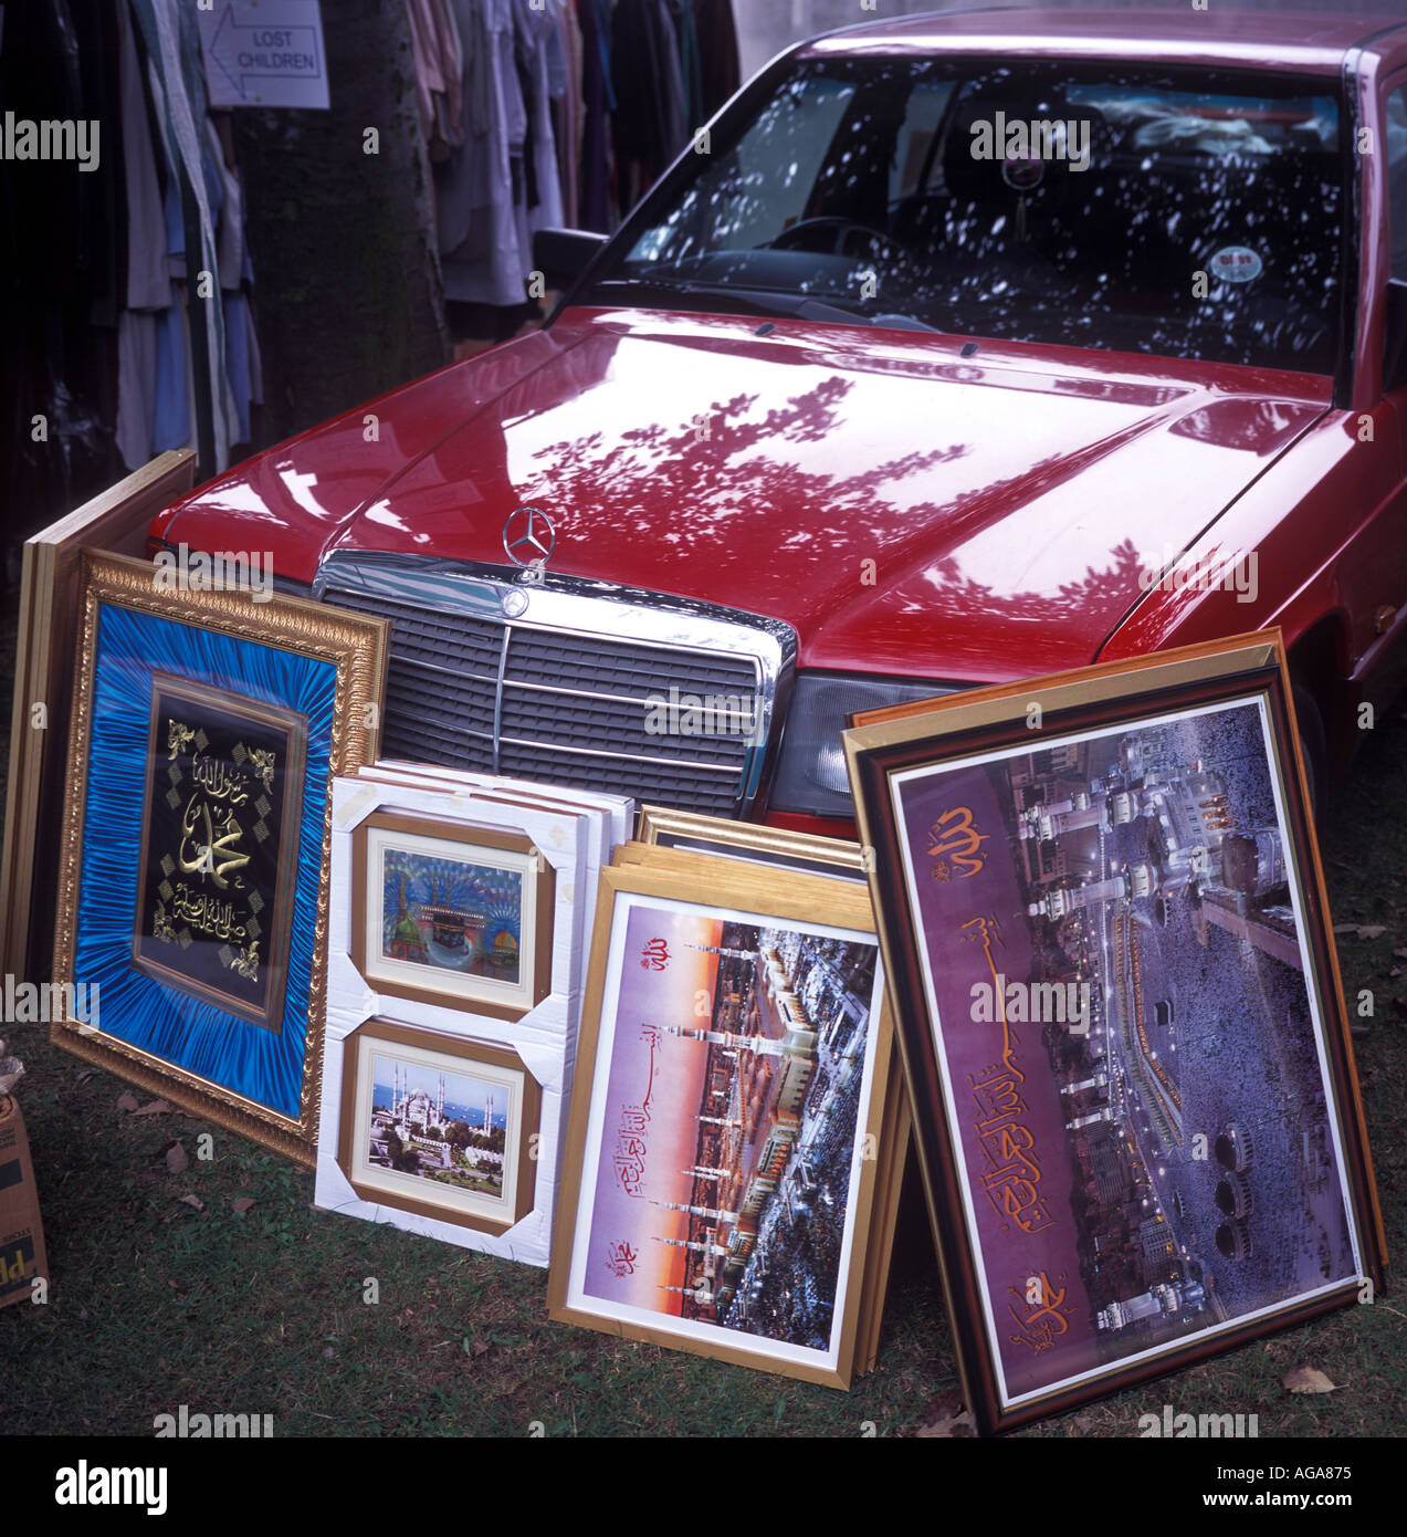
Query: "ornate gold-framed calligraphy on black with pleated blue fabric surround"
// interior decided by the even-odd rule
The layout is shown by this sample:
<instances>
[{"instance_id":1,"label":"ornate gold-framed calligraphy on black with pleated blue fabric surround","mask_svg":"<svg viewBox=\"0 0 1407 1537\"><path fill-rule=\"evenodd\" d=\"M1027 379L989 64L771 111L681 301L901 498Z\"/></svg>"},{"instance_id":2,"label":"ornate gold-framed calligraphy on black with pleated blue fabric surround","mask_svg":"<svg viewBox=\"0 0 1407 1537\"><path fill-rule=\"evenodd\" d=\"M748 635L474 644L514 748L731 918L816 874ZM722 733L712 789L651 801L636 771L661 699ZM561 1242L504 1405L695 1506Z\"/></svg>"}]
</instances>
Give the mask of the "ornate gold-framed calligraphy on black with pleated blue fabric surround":
<instances>
[{"instance_id":1,"label":"ornate gold-framed calligraphy on black with pleated blue fabric surround","mask_svg":"<svg viewBox=\"0 0 1407 1537\"><path fill-rule=\"evenodd\" d=\"M84 552L54 1041L313 1162L335 773L386 624Z\"/></svg>"}]
</instances>

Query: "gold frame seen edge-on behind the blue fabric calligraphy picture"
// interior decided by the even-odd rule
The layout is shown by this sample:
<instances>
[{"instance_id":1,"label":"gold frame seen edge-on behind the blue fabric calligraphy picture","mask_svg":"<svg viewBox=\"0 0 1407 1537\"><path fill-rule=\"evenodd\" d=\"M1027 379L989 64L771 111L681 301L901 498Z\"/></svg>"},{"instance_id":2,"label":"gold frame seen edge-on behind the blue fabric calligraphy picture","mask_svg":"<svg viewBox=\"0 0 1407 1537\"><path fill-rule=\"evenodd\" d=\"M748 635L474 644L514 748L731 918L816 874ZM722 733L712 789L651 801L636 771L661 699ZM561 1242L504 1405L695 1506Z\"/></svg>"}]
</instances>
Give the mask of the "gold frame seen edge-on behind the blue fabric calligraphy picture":
<instances>
[{"instance_id":1,"label":"gold frame seen edge-on behind the blue fabric calligraphy picture","mask_svg":"<svg viewBox=\"0 0 1407 1537\"><path fill-rule=\"evenodd\" d=\"M63 750L74 692L78 566L84 546L141 555L152 518L190 490L195 453L161 453L25 541L5 844L0 973L40 982L54 961L63 825Z\"/></svg>"}]
</instances>

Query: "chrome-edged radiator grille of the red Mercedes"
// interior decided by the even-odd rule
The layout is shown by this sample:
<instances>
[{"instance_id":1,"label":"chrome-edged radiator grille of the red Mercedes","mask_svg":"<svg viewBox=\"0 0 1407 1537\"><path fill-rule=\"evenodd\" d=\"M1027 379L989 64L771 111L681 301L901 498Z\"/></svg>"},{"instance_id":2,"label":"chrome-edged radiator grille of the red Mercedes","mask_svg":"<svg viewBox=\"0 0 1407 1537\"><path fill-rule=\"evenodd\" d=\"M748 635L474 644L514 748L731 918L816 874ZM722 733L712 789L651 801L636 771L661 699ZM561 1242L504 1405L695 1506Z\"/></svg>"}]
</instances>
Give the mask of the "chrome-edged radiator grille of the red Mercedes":
<instances>
[{"instance_id":1,"label":"chrome-edged radiator grille of the red Mercedes","mask_svg":"<svg viewBox=\"0 0 1407 1537\"><path fill-rule=\"evenodd\" d=\"M324 603L390 621L386 756L742 815L794 642L776 621L601 584L413 556L339 556ZM510 613L527 603L522 613ZM756 732L650 732L651 701L737 699ZM685 725L697 724L697 716ZM679 715L667 722L674 727Z\"/></svg>"}]
</instances>

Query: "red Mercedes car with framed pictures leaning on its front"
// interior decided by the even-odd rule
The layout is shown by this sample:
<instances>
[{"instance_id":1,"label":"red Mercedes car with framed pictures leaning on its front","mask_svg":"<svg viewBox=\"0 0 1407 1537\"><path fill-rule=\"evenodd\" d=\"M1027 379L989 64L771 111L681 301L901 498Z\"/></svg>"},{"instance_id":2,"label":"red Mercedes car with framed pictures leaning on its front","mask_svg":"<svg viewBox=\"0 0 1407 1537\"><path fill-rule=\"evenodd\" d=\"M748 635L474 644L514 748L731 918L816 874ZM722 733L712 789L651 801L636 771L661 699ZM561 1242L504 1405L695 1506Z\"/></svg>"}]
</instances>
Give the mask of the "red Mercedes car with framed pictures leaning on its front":
<instances>
[{"instance_id":1,"label":"red Mercedes car with framed pictures leaning on its front","mask_svg":"<svg viewBox=\"0 0 1407 1537\"><path fill-rule=\"evenodd\" d=\"M1404 681L1404 20L851 28L538 264L152 529L387 615L387 755L846 833L854 710L1280 626L1321 793Z\"/></svg>"}]
</instances>

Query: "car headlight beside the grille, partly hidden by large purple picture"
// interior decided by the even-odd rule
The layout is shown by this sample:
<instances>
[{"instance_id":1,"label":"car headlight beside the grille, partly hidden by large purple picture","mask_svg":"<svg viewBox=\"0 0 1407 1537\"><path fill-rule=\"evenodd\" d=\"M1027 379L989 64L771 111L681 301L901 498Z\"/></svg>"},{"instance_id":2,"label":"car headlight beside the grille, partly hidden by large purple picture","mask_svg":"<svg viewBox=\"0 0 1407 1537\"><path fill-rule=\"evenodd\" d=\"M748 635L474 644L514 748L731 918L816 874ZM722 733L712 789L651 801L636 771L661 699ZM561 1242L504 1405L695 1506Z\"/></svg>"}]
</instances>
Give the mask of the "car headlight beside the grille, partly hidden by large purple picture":
<instances>
[{"instance_id":1,"label":"car headlight beside the grille, partly hidden by large purple picture","mask_svg":"<svg viewBox=\"0 0 1407 1537\"><path fill-rule=\"evenodd\" d=\"M768 807L811 816L852 816L840 733L846 716L955 693L951 682L899 682L856 673L797 673Z\"/></svg>"}]
</instances>

